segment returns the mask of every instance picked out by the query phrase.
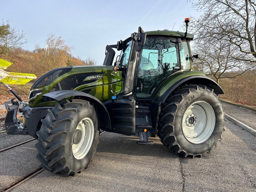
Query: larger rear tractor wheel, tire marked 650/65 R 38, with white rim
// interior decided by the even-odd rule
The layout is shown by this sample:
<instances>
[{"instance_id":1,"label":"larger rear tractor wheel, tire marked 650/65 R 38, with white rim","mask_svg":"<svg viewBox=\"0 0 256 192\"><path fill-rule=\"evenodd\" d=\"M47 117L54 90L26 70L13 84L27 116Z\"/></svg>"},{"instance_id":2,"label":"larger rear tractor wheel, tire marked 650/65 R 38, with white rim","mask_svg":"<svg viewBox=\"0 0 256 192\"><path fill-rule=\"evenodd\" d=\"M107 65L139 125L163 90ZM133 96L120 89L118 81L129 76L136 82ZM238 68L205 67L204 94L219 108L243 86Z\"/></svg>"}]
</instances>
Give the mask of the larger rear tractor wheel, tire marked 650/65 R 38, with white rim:
<instances>
[{"instance_id":1,"label":"larger rear tractor wheel, tire marked 650/65 R 38, with white rim","mask_svg":"<svg viewBox=\"0 0 256 192\"><path fill-rule=\"evenodd\" d=\"M222 105L209 87L183 86L162 105L158 136L166 147L184 157L210 153L224 131Z\"/></svg>"}]
</instances>

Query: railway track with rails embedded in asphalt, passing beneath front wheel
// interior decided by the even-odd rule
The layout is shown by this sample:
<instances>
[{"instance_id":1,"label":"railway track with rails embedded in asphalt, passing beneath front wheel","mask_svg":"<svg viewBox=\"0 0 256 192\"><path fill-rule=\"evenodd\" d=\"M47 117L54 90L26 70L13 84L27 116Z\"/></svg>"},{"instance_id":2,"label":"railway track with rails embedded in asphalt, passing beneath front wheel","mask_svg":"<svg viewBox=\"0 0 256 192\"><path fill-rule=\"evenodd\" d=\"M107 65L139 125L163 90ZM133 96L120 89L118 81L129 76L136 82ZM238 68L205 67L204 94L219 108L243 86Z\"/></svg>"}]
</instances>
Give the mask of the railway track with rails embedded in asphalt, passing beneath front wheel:
<instances>
[{"instance_id":1,"label":"railway track with rails embedded in asphalt, passing beneath front wheel","mask_svg":"<svg viewBox=\"0 0 256 192\"><path fill-rule=\"evenodd\" d=\"M102 135L103 133L105 133L105 131L100 132L100 135ZM18 144L16 144L16 145L10 146L10 147L8 147L8 148L1 149L1 150L0 150L0 153L1 153L1 152L4 152L4 151L7 151L7 150L9 150L9 149L12 149L12 148L14 148L14 147L18 147L18 146L23 145L23 144L25 144L25 143L31 142L31 141L33 141L33 140L36 140L36 139L33 138L33 139L30 139L30 140L27 140L27 141L18 143ZM21 185L22 183L26 182L27 180L31 179L32 177L36 176L37 174L39 174L40 172L43 172L43 171L44 171L44 169L43 169L42 167L40 167L40 168L38 168L38 169L36 169L36 170L34 170L34 171L28 173L28 174L25 175L24 177L22 177L22 178L20 178L20 179L18 179L18 180L16 180L16 181L14 181L14 182L11 183L10 185L8 185L8 186L6 186L6 187L0 189L0 192L8 192L8 191L11 191L12 189L18 187L18 186Z\"/></svg>"}]
</instances>

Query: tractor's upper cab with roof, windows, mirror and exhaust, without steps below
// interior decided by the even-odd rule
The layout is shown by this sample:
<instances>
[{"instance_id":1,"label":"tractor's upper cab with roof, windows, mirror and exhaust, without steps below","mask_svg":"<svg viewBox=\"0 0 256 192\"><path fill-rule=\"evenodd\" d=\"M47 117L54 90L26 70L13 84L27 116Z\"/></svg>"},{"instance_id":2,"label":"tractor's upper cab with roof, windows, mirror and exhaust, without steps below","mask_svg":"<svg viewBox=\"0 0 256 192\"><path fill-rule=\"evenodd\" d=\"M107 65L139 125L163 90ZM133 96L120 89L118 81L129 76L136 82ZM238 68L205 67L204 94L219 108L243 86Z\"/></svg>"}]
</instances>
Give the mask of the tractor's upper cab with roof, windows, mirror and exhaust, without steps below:
<instances>
[{"instance_id":1,"label":"tractor's upper cab with roof, windows, mirror and exhaust, without steps below","mask_svg":"<svg viewBox=\"0 0 256 192\"><path fill-rule=\"evenodd\" d=\"M192 70L189 41L193 35L185 37L182 32L169 30L142 32L140 27L138 31L116 45L107 45L103 65L112 65L113 48L121 50L114 62L114 70L122 71L123 96L151 100L157 87L169 76L181 70Z\"/></svg>"}]
</instances>

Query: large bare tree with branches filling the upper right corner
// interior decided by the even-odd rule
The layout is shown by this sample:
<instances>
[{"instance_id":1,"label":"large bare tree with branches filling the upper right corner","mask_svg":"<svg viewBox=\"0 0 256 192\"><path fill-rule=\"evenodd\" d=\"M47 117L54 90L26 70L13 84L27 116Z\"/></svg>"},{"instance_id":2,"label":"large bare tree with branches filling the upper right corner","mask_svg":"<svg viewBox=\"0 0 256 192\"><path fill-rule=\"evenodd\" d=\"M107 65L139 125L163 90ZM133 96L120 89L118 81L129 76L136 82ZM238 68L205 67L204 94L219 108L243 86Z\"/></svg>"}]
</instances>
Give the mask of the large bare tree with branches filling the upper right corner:
<instances>
[{"instance_id":1,"label":"large bare tree with branches filling the upper right corner","mask_svg":"<svg viewBox=\"0 0 256 192\"><path fill-rule=\"evenodd\" d=\"M198 41L220 39L233 44L244 54L232 56L236 60L256 63L256 4L251 0L197 0L192 6L203 12L192 18L193 32ZM233 48L233 47L232 47Z\"/></svg>"}]
</instances>

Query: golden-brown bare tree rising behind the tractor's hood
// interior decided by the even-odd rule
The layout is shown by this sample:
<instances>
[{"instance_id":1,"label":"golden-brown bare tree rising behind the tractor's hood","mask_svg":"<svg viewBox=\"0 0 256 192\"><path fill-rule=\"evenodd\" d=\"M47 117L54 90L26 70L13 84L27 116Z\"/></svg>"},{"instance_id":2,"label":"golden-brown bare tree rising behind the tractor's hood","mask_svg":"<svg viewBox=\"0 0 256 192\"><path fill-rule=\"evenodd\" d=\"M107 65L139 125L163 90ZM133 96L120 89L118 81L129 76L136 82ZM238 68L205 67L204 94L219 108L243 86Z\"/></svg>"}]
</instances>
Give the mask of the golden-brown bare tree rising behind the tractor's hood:
<instances>
[{"instance_id":1,"label":"golden-brown bare tree rising behind the tractor's hood","mask_svg":"<svg viewBox=\"0 0 256 192\"><path fill-rule=\"evenodd\" d=\"M48 35L45 42L46 48L36 45L36 52L42 56L44 69L48 71L58 67L66 67L73 48L65 44L65 41L60 36L57 37L53 34Z\"/></svg>"}]
</instances>

